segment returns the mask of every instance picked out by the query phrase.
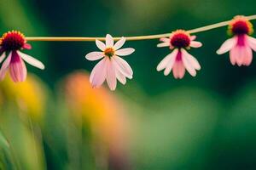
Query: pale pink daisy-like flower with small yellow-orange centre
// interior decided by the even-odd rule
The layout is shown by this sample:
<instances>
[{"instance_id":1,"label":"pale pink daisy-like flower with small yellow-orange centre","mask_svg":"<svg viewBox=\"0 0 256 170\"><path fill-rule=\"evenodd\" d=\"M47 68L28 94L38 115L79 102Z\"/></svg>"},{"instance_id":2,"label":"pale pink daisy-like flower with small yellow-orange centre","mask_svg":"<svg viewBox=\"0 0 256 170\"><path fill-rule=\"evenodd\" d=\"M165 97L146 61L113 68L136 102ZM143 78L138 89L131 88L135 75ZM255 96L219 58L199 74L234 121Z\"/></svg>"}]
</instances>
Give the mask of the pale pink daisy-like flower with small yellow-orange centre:
<instances>
[{"instance_id":1,"label":"pale pink daisy-like flower with small yellow-orange centre","mask_svg":"<svg viewBox=\"0 0 256 170\"><path fill-rule=\"evenodd\" d=\"M88 60L102 59L90 73L90 83L93 88L98 88L102 83L107 80L108 87L111 90L115 90L117 85L117 79L122 84L126 83L126 77L132 78L131 66L119 56L125 56L132 54L134 48L122 48L125 44L125 37L113 44L113 37L111 35L106 36L106 44L96 40L96 46L102 50L102 52L91 52L85 56Z\"/></svg>"}]
</instances>

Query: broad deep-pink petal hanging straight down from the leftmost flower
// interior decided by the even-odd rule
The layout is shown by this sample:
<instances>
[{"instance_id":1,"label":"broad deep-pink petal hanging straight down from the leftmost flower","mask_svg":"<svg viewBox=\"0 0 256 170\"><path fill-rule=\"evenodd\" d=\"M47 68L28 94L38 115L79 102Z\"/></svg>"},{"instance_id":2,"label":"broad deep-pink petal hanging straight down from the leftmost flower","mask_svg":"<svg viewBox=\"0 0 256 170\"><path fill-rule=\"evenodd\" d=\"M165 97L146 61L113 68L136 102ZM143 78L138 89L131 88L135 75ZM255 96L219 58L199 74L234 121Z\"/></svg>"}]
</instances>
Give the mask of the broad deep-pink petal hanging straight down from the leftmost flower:
<instances>
[{"instance_id":1,"label":"broad deep-pink petal hanging straight down from the leftmost flower","mask_svg":"<svg viewBox=\"0 0 256 170\"><path fill-rule=\"evenodd\" d=\"M26 65L16 51L12 52L9 73L14 82L24 82L26 80Z\"/></svg>"}]
</instances>

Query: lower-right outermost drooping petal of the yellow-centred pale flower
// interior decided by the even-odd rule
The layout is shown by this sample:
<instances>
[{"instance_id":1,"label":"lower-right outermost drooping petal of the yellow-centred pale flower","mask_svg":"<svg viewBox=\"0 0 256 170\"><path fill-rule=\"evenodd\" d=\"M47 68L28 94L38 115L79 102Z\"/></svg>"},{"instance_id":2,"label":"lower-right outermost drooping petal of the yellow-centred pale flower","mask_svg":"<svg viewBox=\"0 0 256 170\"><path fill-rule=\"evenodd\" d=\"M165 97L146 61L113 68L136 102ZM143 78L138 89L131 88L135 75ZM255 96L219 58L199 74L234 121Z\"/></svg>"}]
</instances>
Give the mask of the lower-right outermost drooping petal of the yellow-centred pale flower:
<instances>
[{"instance_id":1,"label":"lower-right outermost drooping petal of the yellow-centred pale flower","mask_svg":"<svg viewBox=\"0 0 256 170\"><path fill-rule=\"evenodd\" d=\"M116 68L123 74L125 77L128 77L129 79L132 78L133 71L131 69L131 66L125 61L125 59L122 59L118 56L112 57L113 62L115 62Z\"/></svg>"}]
</instances>

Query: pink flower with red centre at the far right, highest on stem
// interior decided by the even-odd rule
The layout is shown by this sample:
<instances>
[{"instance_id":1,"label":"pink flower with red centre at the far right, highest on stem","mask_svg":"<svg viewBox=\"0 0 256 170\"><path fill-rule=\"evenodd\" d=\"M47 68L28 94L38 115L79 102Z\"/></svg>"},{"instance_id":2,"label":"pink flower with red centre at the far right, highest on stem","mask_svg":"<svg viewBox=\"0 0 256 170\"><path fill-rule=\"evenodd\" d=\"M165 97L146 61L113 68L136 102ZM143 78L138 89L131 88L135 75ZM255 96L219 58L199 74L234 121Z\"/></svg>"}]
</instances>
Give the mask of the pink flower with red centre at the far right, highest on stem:
<instances>
[{"instance_id":1,"label":"pink flower with red centre at the far right, highest on stem","mask_svg":"<svg viewBox=\"0 0 256 170\"><path fill-rule=\"evenodd\" d=\"M256 39L248 36L253 33L253 25L246 17L236 16L230 22L229 33L233 37L222 44L217 54L230 51L232 65L250 65L253 60L253 51L256 51Z\"/></svg>"}]
</instances>

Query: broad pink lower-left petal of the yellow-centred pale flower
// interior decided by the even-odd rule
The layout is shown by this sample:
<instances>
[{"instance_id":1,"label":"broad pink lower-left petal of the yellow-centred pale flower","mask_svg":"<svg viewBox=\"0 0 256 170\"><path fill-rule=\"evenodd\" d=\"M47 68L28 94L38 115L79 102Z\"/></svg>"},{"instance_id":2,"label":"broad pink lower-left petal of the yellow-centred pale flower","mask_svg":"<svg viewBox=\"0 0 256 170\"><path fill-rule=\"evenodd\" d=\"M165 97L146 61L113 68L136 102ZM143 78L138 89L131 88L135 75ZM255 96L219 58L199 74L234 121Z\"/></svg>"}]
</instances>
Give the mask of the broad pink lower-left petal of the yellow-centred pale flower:
<instances>
[{"instance_id":1,"label":"broad pink lower-left petal of the yellow-centred pale flower","mask_svg":"<svg viewBox=\"0 0 256 170\"><path fill-rule=\"evenodd\" d=\"M107 59L102 59L98 64L95 65L90 73L90 83L93 88L102 86L102 83L106 79L107 75Z\"/></svg>"}]
</instances>

